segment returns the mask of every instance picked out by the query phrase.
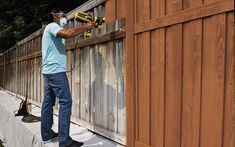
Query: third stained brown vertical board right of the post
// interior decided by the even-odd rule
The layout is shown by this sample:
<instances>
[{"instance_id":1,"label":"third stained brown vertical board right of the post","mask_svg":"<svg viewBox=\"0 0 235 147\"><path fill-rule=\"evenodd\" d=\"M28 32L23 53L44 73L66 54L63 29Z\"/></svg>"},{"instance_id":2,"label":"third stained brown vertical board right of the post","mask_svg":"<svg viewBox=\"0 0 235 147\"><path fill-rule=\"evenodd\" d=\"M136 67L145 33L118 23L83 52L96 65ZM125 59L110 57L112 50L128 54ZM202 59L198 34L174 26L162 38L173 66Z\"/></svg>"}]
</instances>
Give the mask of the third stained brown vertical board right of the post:
<instances>
[{"instance_id":1,"label":"third stained brown vertical board right of the post","mask_svg":"<svg viewBox=\"0 0 235 147\"><path fill-rule=\"evenodd\" d=\"M166 1L166 14L182 10L182 1ZM182 24L166 28L165 147L180 147Z\"/></svg>"}]
</instances>

